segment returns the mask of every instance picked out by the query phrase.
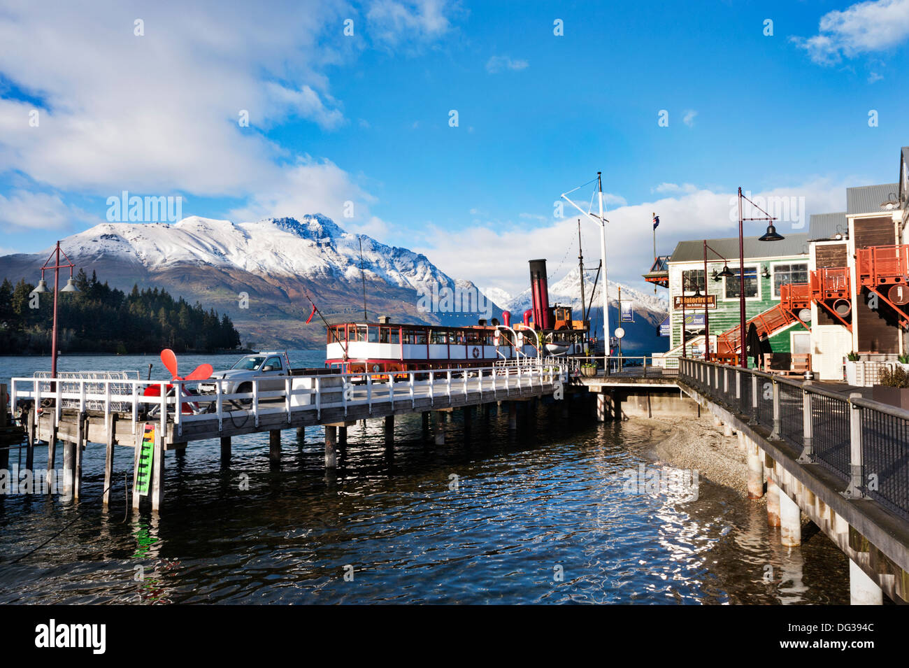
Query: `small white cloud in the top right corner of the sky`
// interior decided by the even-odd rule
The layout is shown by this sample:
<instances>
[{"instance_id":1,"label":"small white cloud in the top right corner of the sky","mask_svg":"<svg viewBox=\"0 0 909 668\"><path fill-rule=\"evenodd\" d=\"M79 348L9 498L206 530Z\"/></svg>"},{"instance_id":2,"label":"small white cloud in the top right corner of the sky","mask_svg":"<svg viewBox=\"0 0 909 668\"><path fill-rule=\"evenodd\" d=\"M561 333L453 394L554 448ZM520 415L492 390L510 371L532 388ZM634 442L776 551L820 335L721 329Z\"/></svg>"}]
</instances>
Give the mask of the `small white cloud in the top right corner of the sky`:
<instances>
[{"instance_id":1,"label":"small white cloud in the top right corner of the sky","mask_svg":"<svg viewBox=\"0 0 909 668\"><path fill-rule=\"evenodd\" d=\"M791 37L819 65L834 65L843 57L884 51L909 38L909 0L857 3L821 17L813 37Z\"/></svg>"}]
</instances>

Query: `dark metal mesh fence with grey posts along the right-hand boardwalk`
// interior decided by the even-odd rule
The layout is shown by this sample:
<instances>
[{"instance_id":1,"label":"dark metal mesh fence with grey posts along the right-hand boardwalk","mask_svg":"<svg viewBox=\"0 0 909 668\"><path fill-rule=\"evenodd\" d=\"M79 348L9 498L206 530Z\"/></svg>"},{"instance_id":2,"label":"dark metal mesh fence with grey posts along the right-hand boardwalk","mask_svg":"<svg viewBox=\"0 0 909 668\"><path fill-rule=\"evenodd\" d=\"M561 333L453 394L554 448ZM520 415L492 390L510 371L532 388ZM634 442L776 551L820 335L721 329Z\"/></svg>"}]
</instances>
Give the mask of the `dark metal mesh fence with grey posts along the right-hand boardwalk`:
<instances>
[{"instance_id":1,"label":"dark metal mesh fence with grey posts along the right-hand boardwalk","mask_svg":"<svg viewBox=\"0 0 909 668\"><path fill-rule=\"evenodd\" d=\"M909 411L755 369L682 359L679 380L770 430L848 485L909 518Z\"/></svg>"}]
</instances>

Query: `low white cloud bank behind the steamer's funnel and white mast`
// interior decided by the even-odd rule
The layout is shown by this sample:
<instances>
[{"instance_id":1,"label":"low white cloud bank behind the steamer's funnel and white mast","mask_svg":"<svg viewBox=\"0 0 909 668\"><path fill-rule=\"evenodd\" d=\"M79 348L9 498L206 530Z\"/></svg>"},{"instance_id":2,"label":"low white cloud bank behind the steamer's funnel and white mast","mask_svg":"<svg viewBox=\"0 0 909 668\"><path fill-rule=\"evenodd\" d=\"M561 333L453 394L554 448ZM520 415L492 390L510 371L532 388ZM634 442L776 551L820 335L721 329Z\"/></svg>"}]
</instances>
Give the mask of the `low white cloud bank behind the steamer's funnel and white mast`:
<instances>
[{"instance_id":1,"label":"low white cloud bank behind the steamer's funnel and white mast","mask_svg":"<svg viewBox=\"0 0 909 668\"><path fill-rule=\"evenodd\" d=\"M848 184L857 182L850 179ZM846 182L834 184L817 179L755 193L754 198L804 196L808 213L843 211L845 187ZM737 225L730 219L731 201L734 202L734 193L687 189L677 196L612 209L607 214L606 228L609 279L643 286L641 274L653 263L654 211L660 216L657 251L665 254L671 253L675 244L684 239L737 235ZM569 215L567 207L565 212L564 219L534 228L514 224L473 224L457 230L429 226L425 230L425 244L414 250L426 254L446 274L517 294L527 287L527 260L546 257L551 263L550 271L554 271L566 249L576 244L577 216ZM599 227L582 219L582 229L585 261L595 265L599 259ZM807 232L807 221L799 229L794 229L791 223L780 223L777 229L784 235ZM746 235L763 232L760 224L746 224ZM468 246L470 253L464 253Z\"/></svg>"}]
</instances>

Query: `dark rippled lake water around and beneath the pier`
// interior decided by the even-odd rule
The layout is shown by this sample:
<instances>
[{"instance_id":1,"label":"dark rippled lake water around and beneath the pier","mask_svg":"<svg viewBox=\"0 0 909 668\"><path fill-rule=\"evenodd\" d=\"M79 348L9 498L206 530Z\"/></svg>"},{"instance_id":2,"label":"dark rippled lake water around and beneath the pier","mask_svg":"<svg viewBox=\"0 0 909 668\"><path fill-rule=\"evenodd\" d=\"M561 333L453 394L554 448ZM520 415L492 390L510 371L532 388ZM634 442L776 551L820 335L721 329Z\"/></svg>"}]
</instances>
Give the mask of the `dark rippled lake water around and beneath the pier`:
<instances>
[{"instance_id":1,"label":"dark rippled lake water around and beneath the pier","mask_svg":"<svg viewBox=\"0 0 909 668\"><path fill-rule=\"evenodd\" d=\"M234 360L187 356L181 371ZM317 353L292 361L320 364ZM47 362L0 358L0 375ZM164 374L156 362L153 377ZM280 469L267 434L235 438L229 467L216 441L192 443L166 455L160 517L125 522L132 449L115 451L105 515L104 447L90 444L78 505L0 497L0 603L848 603L846 558L821 533L787 550L763 505L704 480L688 503L625 492L623 472L651 465L665 433L592 417L589 404L567 415L542 404L509 434L494 411L467 438L455 412L443 446L424 442L419 415L398 417L392 454L381 421L357 424L333 475L321 429L303 444L286 431Z\"/></svg>"}]
</instances>

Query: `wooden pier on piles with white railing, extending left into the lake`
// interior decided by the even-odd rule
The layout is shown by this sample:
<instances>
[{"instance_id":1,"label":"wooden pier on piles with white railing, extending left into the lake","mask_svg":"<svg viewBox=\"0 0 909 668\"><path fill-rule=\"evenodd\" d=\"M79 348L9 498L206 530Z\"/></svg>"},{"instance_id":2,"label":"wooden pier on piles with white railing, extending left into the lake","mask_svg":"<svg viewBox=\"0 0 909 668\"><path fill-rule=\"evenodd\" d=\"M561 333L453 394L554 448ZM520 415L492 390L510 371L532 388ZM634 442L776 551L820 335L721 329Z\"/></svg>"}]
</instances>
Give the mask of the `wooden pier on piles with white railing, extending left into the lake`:
<instances>
[{"instance_id":1,"label":"wooden pier on piles with white railing, extending left into the lake","mask_svg":"<svg viewBox=\"0 0 909 668\"><path fill-rule=\"evenodd\" d=\"M484 368L412 371L389 374L320 374L291 376L284 390L194 394L195 382L124 379L75 379L51 382L46 378L14 378L13 405L25 402L24 422L29 425L28 453L32 461L35 442L47 449L47 483L54 472L55 448L64 448L63 492L78 500L82 486L83 452L88 444L104 444L104 503L110 499L114 448L134 449L132 505L139 508L142 479L148 467L148 496L154 512L164 501L164 454L189 444L219 439L223 459L230 458L231 438L244 434L269 434L269 456L280 461L281 433L305 427L325 428L325 467L334 468L337 449L344 447L347 427L362 420L382 419L385 445L394 446L395 416L439 415L455 408L509 403L509 426L515 426L514 403L543 396L562 399L568 371L564 364L510 362ZM146 396L155 386L158 396ZM35 409L37 406L37 409ZM177 410L177 406L181 409ZM143 440L149 438L146 455ZM445 434L435 432L436 444ZM147 461L146 461L147 460ZM31 467L29 467L31 468Z\"/></svg>"}]
</instances>

